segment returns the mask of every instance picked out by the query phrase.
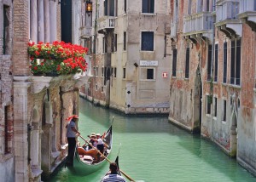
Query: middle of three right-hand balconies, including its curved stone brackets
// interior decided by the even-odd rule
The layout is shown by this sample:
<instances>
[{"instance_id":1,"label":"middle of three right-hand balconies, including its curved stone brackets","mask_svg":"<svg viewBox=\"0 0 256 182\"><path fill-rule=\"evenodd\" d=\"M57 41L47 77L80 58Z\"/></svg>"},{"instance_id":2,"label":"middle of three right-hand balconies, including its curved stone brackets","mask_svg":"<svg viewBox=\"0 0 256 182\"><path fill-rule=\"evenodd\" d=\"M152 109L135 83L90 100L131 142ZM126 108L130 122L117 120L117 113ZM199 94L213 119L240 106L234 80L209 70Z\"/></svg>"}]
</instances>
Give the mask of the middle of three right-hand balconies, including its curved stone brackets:
<instances>
[{"instance_id":1,"label":"middle of three right-hand balconies, including its curved stone brackets","mask_svg":"<svg viewBox=\"0 0 256 182\"><path fill-rule=\"evenodd\" d=\"M241 37L242 24L237 14L239 14L239 2L235 0L219 0L217 2L215 26L227 37Z\"/></svg>"}]
</instances>

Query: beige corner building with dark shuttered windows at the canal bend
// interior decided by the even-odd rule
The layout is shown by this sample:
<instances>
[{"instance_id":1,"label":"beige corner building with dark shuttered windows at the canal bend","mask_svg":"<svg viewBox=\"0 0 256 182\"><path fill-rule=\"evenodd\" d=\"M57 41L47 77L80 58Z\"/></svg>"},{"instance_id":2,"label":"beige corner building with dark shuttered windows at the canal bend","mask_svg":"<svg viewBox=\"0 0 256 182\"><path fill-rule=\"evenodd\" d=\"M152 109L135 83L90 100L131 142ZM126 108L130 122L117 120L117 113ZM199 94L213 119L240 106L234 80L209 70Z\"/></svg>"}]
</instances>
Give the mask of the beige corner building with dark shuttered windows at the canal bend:
<instances>
[{"instance_id":1,"label":"beige corner building with dark shuttered windows at the canal bend","mask_svg":"<svg viewBox=\"0 0 256 182\"><path fill-rule=\"evenodd\" d=\"M95 52L86 97L125 114L168 113L169 1L93 3Z\"/></svg>"}]
</instances>

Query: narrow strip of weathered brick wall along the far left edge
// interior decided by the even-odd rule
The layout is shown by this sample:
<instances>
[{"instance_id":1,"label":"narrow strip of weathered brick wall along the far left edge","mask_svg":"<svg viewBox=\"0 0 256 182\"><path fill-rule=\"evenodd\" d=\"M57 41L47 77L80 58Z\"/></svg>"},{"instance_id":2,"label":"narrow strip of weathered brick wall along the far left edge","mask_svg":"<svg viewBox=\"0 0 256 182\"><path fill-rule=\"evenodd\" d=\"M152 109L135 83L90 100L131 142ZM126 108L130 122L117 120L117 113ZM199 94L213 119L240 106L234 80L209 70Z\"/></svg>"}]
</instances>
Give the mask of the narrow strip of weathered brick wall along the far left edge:
<instances>
[{"instance_id":1,"label":"narrow strip of weathered brick wall along the far left edge","mask_svg":"<svg viewBox=\"0 0 256 182\"><path fill-rule=\"evenodd\" d=\"M15 181L14 90L12 77L13 2L0 1L0 174ZM6 167L9 168L6 168Z\"/></svg>"}]
</instances>

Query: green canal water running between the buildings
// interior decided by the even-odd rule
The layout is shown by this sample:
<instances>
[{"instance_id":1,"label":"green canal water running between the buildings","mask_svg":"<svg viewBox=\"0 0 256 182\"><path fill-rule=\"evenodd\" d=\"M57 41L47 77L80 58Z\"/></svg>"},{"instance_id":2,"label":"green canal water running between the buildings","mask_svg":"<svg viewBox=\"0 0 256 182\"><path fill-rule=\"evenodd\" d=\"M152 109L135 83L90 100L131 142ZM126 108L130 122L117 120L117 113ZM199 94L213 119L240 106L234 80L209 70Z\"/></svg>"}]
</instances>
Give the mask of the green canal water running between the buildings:
<instances>
[{"instance_id":1,"label":"green canal water running between the buildings","mask_svg":"<svg viewBox=\"0 0 256 182\"><path fill-rule=\"evenodd\" d=\"M167 117L127 117L80 99L79 131L84 137L104 132L112 117L113 150L109 160L114 161L119 153L119 167L136 181L256 181L216 145L177 128ZM96 182L107 171L108 163L87 176L60 168L49 181Z\"/></svg>"}]
</instances>

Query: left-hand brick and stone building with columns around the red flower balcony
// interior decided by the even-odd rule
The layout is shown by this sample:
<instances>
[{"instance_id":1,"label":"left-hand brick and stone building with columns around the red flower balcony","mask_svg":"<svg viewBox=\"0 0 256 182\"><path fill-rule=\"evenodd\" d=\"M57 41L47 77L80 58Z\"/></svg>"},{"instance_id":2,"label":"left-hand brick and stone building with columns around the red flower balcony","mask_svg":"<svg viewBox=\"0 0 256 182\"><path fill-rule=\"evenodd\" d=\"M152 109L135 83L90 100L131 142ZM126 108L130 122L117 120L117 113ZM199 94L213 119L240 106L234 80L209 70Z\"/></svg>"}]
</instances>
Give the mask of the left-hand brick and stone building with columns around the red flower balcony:
<instances>
[{"instance_id":1,"label":"left-hand brick and stone building with columns around the red flower balcony","mask_svg":"<svg viewBox=\"0 0 256 182\"><path fill-rule=\"evenodd\" d=\"M29 42L61 41L62 3L0 1L3 181L47 179L67 156L66 118L79 113L79 77L32 76L27 53Z\"/></svg>"}]
</instances>

